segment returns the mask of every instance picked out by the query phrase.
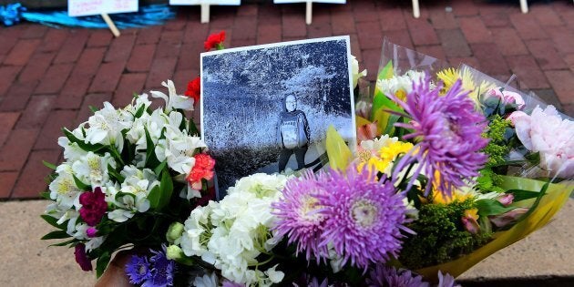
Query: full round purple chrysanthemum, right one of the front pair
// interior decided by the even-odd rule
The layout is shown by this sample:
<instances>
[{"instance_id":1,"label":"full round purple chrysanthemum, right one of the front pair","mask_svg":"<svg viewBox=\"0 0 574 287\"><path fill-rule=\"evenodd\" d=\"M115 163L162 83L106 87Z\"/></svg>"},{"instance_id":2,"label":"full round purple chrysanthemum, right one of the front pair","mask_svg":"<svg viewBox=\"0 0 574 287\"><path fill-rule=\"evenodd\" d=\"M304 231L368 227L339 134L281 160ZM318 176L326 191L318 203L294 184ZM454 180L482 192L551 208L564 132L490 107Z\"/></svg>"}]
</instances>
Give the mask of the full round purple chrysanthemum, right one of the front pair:
<instances>
[{"instance_id":1,"label":"full round purple chrysanthemum, right one of the front pair","mask_svg":"<svg viewBox=\"0 0 574 287\"><path fill-rule=\"evenodd\" d=\"M319 246L333 244L343 261L366 267L385 262L401 250L401 230L406 219L404 193L396 193L386 180L376 180L368 170L357 172L351 165L346 173L330 170L322 183L328 192L317 195L326 218Z\"/></svg>"}]
</instances>

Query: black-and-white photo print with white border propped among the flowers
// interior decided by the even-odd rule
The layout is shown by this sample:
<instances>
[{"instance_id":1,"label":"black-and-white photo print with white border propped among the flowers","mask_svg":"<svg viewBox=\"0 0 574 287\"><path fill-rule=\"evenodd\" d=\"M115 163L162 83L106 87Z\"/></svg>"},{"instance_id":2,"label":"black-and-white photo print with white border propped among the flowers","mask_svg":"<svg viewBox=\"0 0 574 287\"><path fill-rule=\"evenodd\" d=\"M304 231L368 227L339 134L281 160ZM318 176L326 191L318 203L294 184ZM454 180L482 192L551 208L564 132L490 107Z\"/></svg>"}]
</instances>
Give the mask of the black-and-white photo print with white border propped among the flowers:
<instances>
[{"instance_id":1,"label":"black-and-white photo print with white border propped among the flowers","mask_svg":"<svg viewBox=\"0 0 574 287\"><path fill-rule=\"evenodd\" d=\"M237 179L321 169L333 125L354 147L348 36L201 54L201 137L219 198Z\"/></svg>"}]
</instances>

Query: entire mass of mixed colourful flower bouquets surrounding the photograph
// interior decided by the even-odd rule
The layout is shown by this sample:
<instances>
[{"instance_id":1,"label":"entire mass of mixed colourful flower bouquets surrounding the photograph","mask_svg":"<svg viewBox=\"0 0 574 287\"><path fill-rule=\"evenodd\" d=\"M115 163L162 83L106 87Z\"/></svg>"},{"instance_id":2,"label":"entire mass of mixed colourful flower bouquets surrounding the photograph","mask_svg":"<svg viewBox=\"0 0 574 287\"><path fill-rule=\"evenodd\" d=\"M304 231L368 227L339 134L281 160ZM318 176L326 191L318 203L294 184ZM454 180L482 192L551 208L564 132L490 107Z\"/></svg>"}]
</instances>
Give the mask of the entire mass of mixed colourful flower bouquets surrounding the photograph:
<instances>
[{"instance_id":1,"label":"entire mass of mixed colourful flower bouquets surrounding the photograph","mask_svg":"<svg viewBox=\"0 0 574 287\"><path fill-rule=\"evenodd\" d=\"M366 72L353 64L356 85ZM568 200L574 123L445 67L385 43L374 95L356 88L357 147L329 128L327 167L253 174L219 201L207 200L214 162L183 114L193 99L168 82L169 97L152 92L165 108L146 95L105 104L60 139L66 162L43 215L59 231L46 239L72 237L61 245L99 272L135 247L125 282L142 286L455 286Z\"/></svg>"}]
</instances>

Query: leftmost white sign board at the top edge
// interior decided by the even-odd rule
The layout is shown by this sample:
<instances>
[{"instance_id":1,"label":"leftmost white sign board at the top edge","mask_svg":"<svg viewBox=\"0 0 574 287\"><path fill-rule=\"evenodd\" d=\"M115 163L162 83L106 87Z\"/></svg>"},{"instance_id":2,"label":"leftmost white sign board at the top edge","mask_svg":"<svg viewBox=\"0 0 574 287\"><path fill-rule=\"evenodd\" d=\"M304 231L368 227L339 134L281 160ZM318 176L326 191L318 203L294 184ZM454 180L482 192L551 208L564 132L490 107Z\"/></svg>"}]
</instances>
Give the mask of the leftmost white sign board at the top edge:
<instances>
[{"instance_id":1,"label":"leftmost white sign board at the top edge","mask_svg":"<svg viewBox=\"0 0 574 287\"><path fill-rule=\"evenodd\" d=\"M100 15L138 12L138 0L67 0L67 15Z\"/></svg>"}]
</instances>

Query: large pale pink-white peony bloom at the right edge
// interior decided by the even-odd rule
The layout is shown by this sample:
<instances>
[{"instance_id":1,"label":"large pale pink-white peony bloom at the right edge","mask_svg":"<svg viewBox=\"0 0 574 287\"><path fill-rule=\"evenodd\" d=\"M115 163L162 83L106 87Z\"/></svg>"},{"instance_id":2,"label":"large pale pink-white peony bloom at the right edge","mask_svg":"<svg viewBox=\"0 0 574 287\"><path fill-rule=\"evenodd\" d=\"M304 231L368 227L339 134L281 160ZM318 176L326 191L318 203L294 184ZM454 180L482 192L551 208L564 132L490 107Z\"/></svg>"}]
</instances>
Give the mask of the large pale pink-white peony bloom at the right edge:
<instances>
[{"instance_id":1,"label":"large pale pink-white peony bloom at the right edge","mask_svg":"<svg viewBox=\"0 0 574 287\"><path fill-rule=\"evenodd\" d=\"M511 118L518 139L528 150L540 153L540 168L550 176L574 177L574 122L560 118L551 105L534 108L530 116L515 113Z\"/></svg>"}]
</instances>

